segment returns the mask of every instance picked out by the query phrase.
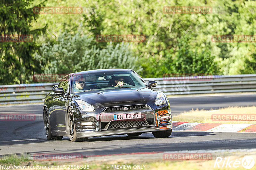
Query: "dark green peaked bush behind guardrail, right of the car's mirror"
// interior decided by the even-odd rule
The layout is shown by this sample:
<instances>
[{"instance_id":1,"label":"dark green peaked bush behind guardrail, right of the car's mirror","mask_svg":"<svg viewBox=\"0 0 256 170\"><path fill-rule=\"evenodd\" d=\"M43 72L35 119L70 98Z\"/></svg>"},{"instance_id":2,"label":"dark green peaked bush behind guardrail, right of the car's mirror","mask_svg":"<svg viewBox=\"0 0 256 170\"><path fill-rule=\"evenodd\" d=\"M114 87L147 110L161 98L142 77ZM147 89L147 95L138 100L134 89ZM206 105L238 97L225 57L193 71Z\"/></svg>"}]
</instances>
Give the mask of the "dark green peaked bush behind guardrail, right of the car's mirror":
<instances>
[{"instance_id":1,"label":"dark green peaked bush behind guardrail, right of the car's mirror","mask_svg":"<svg viewBox=\"0 0 256 170\"><path fill-rule=\"evenodd\" d=\"M164 59L157 61L155 58L151 58L149 61L144 61L145 64L142 65L144 72L148 71L149 77L161 77L164 74L175 73L220 74L220 68L210 50L206 48L199 51L198 48L195 48L192 51L190 40L190 34L183 34L181 38L178 38L175 51L170 49L164 52ZM148 62L150 65L147 65Z\"/></svg>"}]
</instances>

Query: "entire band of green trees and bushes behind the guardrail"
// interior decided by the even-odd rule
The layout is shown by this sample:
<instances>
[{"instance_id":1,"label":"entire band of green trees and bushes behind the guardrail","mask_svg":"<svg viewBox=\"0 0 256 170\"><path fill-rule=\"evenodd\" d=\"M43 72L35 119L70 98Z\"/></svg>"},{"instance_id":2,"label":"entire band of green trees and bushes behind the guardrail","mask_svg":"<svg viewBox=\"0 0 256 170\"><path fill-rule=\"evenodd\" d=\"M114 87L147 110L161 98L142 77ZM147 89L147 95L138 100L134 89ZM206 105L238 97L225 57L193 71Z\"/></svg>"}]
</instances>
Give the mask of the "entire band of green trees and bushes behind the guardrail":
<instances>
[{"instance_id":1,"label":"entire band of green trees and bushes behind the guardrail","mask_svg":"<svg viewBox=\"0 0 256 170\"><path fill-rule=\"evenodd\" d=\"M30 82L34 73L96 68L132 68L142 77L255 73L255 42L211 40L212 35L256 35L255 1L65 0L45 6L81 6L83 13L33 14L29 8L42 1L10 0L0 7L1 34L40 35L49 25L35 43L0 44L1 84ZM211 6L212 13L168 14L164 6ZM16 12L25 15L17 18ZM146 40L97 42L98 34L143 34Z\"/></svg>"}]
</instances>

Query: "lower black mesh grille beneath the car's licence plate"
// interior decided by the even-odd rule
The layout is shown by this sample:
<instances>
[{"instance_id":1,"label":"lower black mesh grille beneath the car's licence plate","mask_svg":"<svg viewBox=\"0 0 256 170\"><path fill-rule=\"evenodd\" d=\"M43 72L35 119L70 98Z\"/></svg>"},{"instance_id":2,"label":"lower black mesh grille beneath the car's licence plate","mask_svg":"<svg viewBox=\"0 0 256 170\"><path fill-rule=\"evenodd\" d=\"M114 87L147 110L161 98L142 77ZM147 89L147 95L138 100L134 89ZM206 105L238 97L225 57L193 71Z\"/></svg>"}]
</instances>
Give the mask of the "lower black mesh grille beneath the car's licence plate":
<instances>
[{"instance_id":1,"label":"lower black mesh grille beneath the car's licence plate","mask_svg":"<svg viewBox=\"0 0 256 170\"><path fill-rule=\"evenodd\" d=\"M138 120L138 121L117 120L117 121L112 121L109 124L108 130L119 129L119 128L140 127L140 126L148 126L148 124L146 123L145 120Z\"/></svg>"}]
</instances>

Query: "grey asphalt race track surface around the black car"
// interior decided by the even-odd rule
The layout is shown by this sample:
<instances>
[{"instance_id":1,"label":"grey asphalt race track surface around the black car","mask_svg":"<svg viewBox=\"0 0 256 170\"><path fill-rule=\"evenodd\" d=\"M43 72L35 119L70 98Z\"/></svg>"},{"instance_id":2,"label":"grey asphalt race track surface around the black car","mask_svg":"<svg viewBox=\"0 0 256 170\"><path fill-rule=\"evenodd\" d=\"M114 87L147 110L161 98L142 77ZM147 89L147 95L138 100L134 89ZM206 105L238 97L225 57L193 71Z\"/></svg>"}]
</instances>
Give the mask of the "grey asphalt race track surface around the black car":
<instances>
[{"instance_id":1,"label":"grey asphalt race track surface around the black car","mask_svg":"<svg viewBox=\"0 0 256 170\"><path fill-rule=\"evenodd\" d=\"M256 94L169 97L172 114L199 108L218 109L228 106L256 105ZM219 133L173 131L168 138L154 138L152 133L138 137L126 135L94 137L87 142L48 141L44 137L42 104L0 107L0 114L36 114L34 121L0 121L0 156L6 154L82 153L106 155L132 152L168 152L199 149L256 148L255 133Z\"/></svg>"}]
</instances>

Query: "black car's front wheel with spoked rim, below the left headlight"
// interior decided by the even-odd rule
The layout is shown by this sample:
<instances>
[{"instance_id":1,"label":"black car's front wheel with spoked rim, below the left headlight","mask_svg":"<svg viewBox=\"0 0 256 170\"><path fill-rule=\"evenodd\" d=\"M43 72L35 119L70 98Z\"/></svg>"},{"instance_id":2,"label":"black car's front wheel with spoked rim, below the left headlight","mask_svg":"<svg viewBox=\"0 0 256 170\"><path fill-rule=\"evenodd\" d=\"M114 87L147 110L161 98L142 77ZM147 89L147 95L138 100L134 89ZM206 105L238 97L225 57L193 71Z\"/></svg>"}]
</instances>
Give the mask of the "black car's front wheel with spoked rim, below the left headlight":
<instances>
[{"instance_id":1,"label":"black car's front wheel with spoked rim, below the left headlight","mask_svg":"<svg viewBox=\"0 0 256 170\"><path fill-rule=\"evenodd\" d=\"M67 115L67 132L68 137L71 140L71 142L83 142L87 141L88 138L77 138L76 136L76 125L75 125L75 119L74 114L72 113L71 109L68 109L68 115Z\"/></svg>"}]
</instances>

